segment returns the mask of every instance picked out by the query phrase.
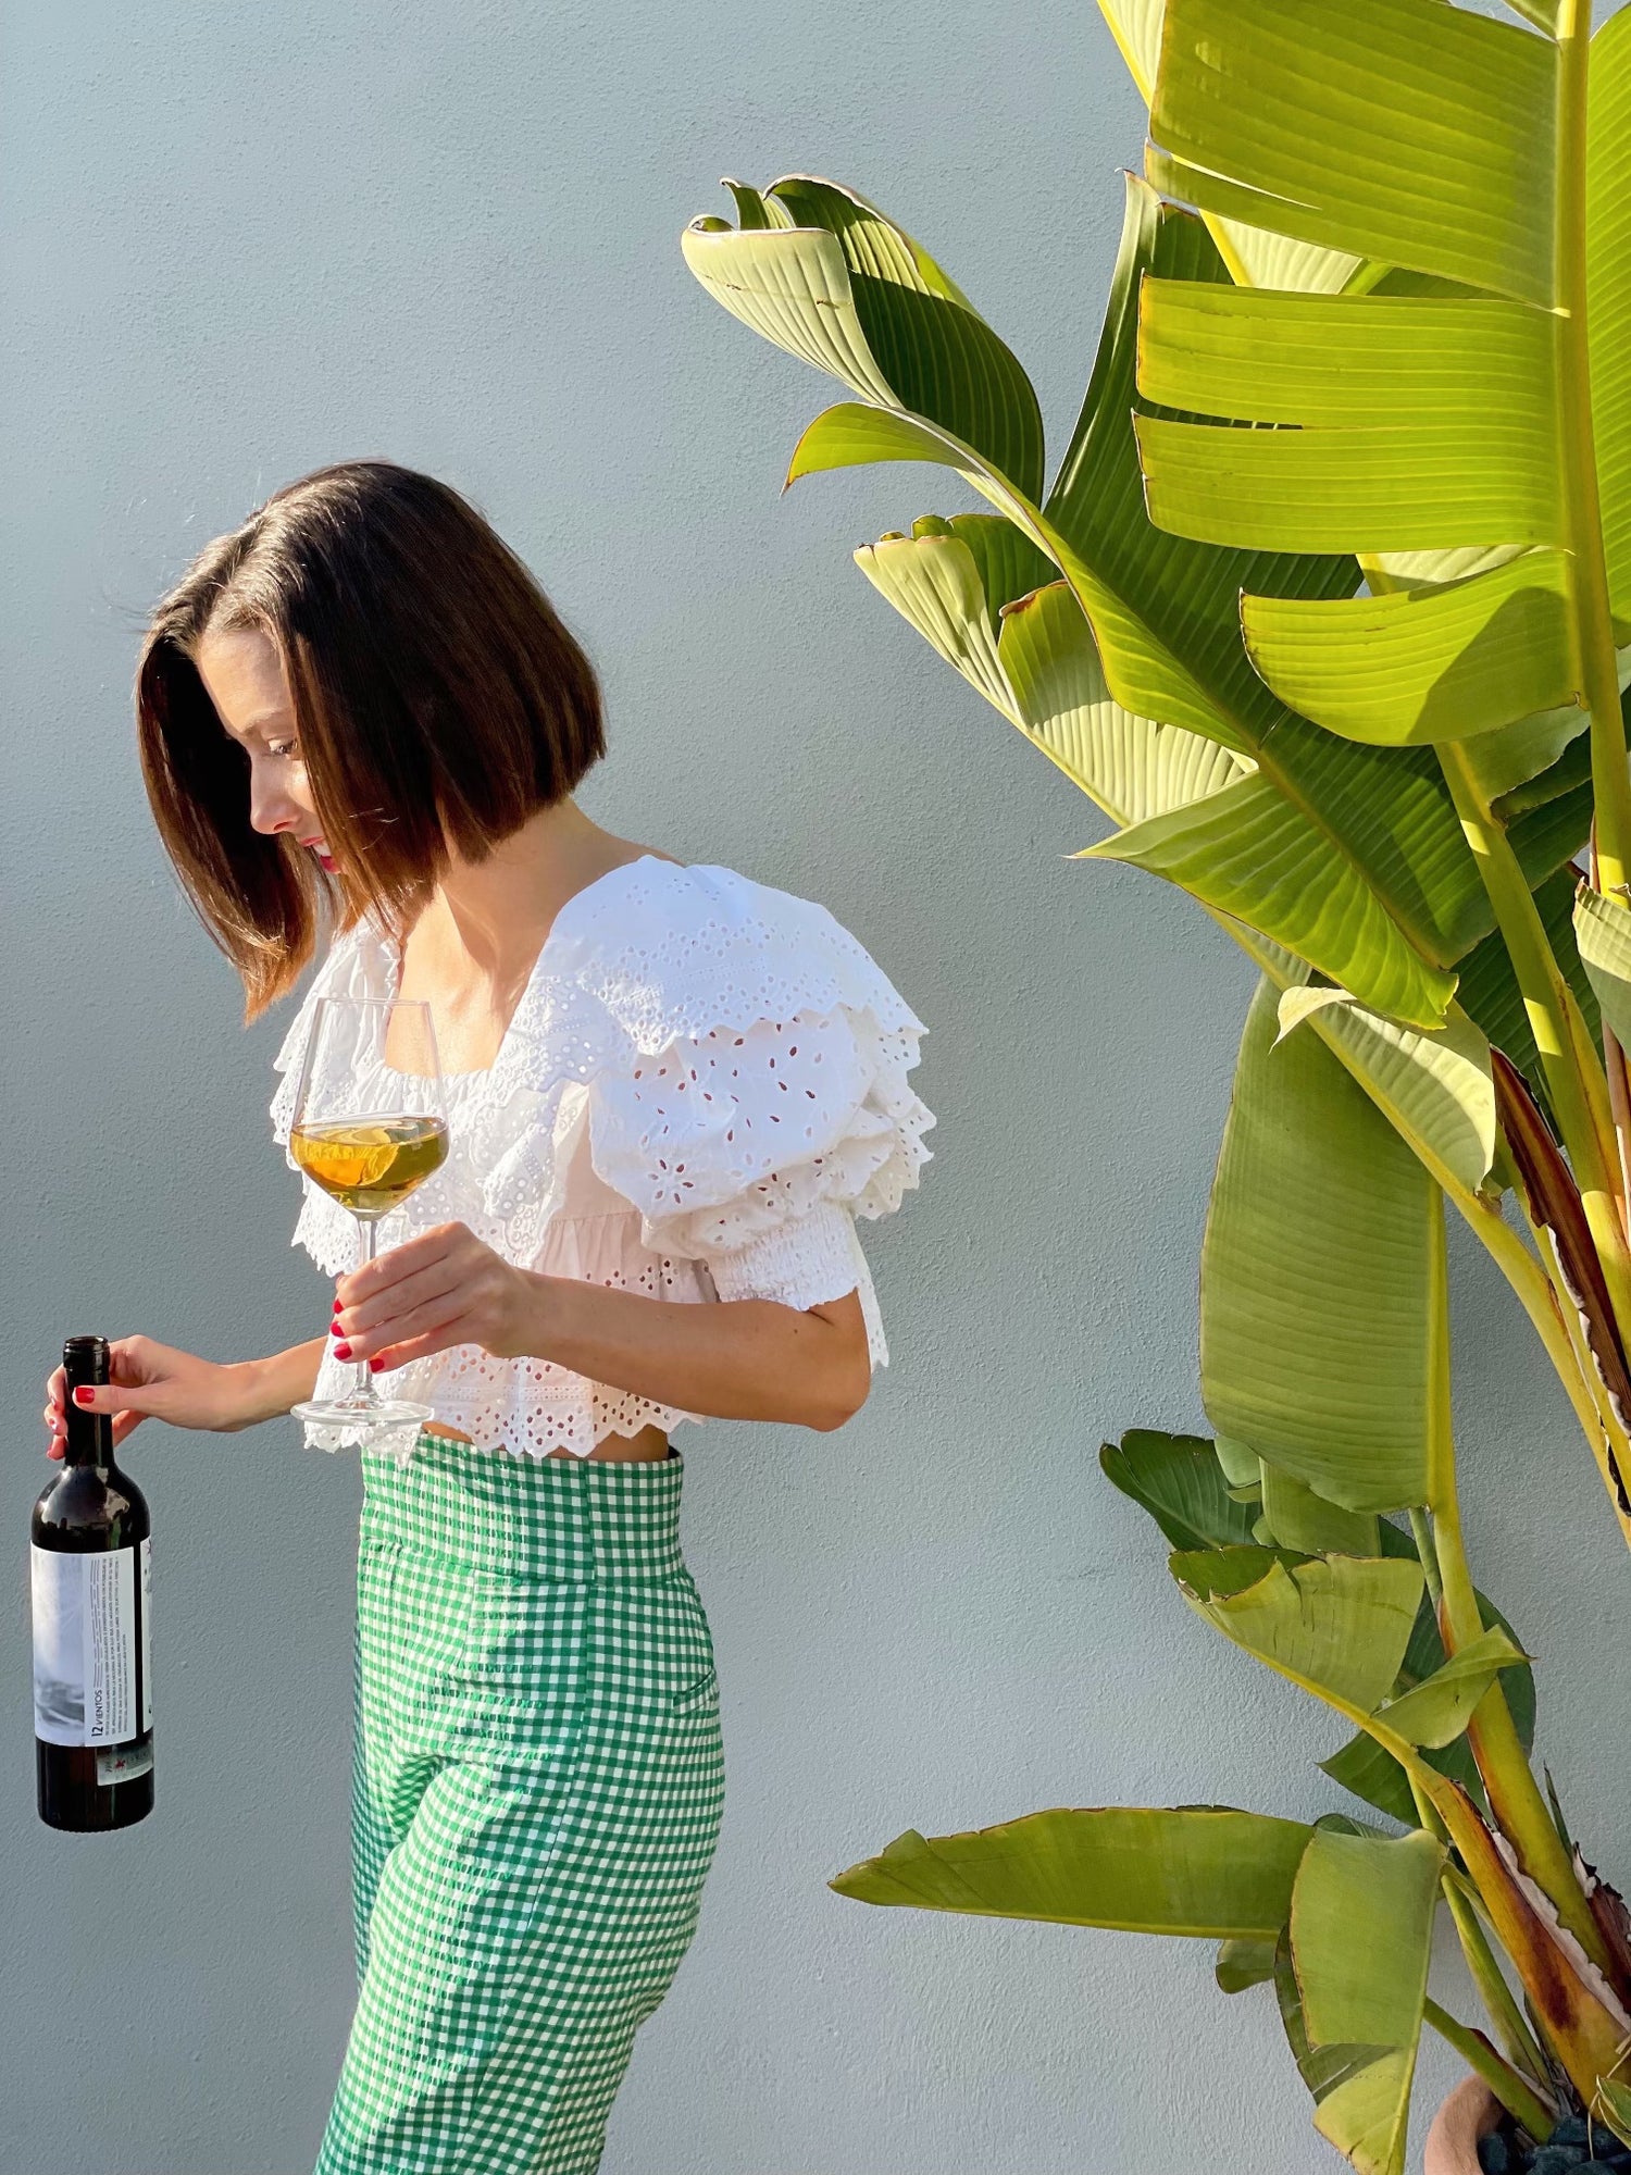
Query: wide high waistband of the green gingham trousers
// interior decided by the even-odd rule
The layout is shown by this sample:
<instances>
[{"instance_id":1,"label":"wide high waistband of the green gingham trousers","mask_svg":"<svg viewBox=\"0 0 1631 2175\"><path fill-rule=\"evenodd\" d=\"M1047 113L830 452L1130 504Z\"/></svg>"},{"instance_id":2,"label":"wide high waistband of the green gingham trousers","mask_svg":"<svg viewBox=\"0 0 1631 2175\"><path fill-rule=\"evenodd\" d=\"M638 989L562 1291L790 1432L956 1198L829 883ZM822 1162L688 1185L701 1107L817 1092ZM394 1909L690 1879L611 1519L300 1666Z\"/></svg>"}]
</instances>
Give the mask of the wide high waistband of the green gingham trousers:
<instances>
[{"instance_id":1,"label":"wide high waistband of the green gingham trousers","mask_svg":"<svg viewBox=\"0 0 1631 2175\"><path fill-rule=\"evenodd\" d=\"M365 1540L511 1579L661 1579L685 1568L685 1459L515 1457L422 1433L409 1459L363 1453Z\"/></svg>"}]
</instances>

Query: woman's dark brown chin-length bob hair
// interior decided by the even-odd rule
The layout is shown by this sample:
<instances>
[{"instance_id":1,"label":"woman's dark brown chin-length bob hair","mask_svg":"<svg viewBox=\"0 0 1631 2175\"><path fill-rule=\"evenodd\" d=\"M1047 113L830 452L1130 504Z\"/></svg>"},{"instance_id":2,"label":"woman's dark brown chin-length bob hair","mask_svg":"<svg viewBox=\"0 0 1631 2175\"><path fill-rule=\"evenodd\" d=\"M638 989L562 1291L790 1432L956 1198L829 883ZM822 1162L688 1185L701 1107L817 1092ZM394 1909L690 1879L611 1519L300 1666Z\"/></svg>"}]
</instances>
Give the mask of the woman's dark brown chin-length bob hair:
<instances>
[{"instance_id":1,"label":"woman's dark brown chin-length bob hair","mask_svg":"<svg viewBox=\"0 0 1631 2175\"><path fill-rule=\"evenodd\" d=\"M204 631L261 629L289 674L326 877L250 824L250 759L198 676ZM152 613L135 683L141 776L187 898L244 979L246 1020L324 929L404 935L448 866L483 861L605 753L589 659L468 500L341 461L215 537Z\"/></svg>"}]
</instances>

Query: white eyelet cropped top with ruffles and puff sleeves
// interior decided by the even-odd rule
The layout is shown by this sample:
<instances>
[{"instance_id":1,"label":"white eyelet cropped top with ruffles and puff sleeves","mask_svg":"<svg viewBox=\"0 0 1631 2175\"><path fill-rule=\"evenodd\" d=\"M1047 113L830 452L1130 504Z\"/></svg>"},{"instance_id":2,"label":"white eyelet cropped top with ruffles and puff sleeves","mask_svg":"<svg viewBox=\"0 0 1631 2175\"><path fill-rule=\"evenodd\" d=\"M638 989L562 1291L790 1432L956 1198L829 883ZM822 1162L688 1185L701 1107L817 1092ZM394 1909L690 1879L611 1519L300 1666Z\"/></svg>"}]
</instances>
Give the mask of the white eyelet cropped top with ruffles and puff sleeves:
<instances>
[{"instance_id":1,"label":"white eyelet cropped top with ruffles and puff sleeves","mask_svg":"<svg viewBox=\"0 0 1631 2175\"><path fill-rule=\"evenodd\" d=\"M391 996L396 981L370 918L331 944L274 1059L285 1155L318 998ZM448 1161L381 1218L378 1251L463 1222L518 1268L655 1298L802 1309L857 1292L872 1364L887 1364L855 1218L900 1207L929 1161L935 1120L907 1083L924 1033L826 907L729 868L626 861L555 916L496 1061L444 1074ZM357 1109L389 1107L391 1079L359 1077ZM302 1190L294 1244L339 1277L361 1259L359 1225L304 1174ZM352 1379L326 1348L315 1394ZM702 1418L478 1344L378 1381L431 1405L426 1425L531 1457ZM304 1435L335 1451L357 1431ZM407 1457L415 1438L370 1449Z\"/></svg>"}]
</instances>

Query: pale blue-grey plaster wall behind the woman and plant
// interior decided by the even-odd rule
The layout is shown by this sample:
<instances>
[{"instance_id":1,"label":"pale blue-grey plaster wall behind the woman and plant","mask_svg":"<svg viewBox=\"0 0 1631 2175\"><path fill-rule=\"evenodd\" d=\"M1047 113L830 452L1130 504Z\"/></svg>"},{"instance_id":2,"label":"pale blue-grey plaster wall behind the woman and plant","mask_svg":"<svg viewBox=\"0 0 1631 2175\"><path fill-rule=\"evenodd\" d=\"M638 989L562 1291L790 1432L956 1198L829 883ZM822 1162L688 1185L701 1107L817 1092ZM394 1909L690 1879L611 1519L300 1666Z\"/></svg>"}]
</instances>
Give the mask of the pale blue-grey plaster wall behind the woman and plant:
<instances>
[{"instance_id":1,"label":"pale blue-grey plaster wall behind the woman and plant","mask_svg":"<svg viewBox=\"0 0 1631 2175\"><path fill-rule=\"evenodd\" d=\"M824 1888L907 1825L1331 1801L1309 1760L1333 1731L1183 1609L1094 1466L1107 1431L1198 1418L1194 1262L1246 972L1174 894L1066 861L1092 809L850 568L957 485L779 500L824 387L676 248L720 172L850 181L1016 341L1057 446L1142 135L1094 9L0 20L0 2168L298 2175L350 2014L357 1466L287 1422L137 1435L161 1810L120 1838L35 1823L22 1544L65 1331L237 1357L324 1322L265 1127L287 1014L237 1029L148 824L128 681L198 544L370 452L470 492L587 637L613 726L594 813L829 900L933 1029L937 1159L872 1235L892 1370L842 1435L685 1442L731 1807L609 2175L1335 2168L1266 1999L1224 2003L1205 1951ZM1477 1275L1459 1312L1472 1542L1542 1657L1574 1820L1624 1866L1620 1760L1592 1768L1624 1738L1622 1555L1514 1312Z\"/></svg>"}]
</instances>

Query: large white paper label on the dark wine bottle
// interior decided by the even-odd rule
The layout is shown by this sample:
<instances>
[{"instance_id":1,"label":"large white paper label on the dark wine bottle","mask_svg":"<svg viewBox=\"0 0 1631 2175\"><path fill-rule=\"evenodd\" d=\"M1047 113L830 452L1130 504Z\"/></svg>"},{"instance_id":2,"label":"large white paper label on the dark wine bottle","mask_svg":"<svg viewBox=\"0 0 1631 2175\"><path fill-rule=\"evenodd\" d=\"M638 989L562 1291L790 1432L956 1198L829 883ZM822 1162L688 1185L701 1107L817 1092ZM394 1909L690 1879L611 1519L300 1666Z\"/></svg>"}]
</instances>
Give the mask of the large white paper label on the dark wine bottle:
<instances>
[{"instance_id":1,"label":"large white paper label on the dark wine bottle","mask_svg":"<svg viewBox=\"0 0 1631 2175\"><path fill-rule=\"evenodd\" d=\"M144 1599L146 1553L144 1542ZM128 1742L146 1727L137 1723L137 1638L146 1662L146 1625L137 1627L137 1551L59 1555L30 1542L28 1570L35 1736L46 1744ZM150 1712L146 1699L141 1705Z\"/></svg>"}]
</instances>

